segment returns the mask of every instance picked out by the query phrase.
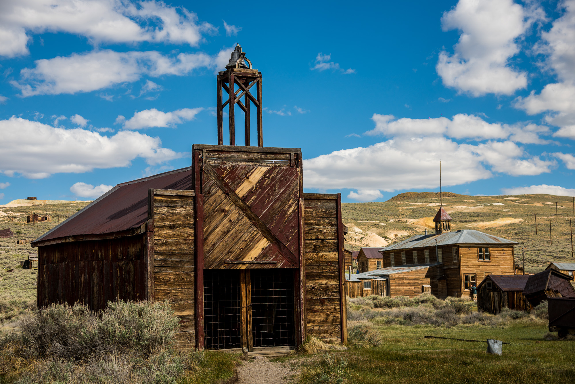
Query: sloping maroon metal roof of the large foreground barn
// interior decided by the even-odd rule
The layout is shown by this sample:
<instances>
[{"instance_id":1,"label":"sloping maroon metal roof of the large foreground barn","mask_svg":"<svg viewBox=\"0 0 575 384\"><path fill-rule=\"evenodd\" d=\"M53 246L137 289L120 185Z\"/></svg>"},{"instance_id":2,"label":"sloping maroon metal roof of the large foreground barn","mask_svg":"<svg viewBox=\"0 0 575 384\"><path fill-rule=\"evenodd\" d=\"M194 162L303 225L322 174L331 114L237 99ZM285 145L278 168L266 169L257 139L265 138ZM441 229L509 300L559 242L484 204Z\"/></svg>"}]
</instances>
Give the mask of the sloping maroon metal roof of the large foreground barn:
<instances>
[{"instance_id":1,"label":"sloping maroon metal roof of the large foreground barn","mask_svg":"<svg viewBox=\"0 0 575 384\"><path fill-rule=\"evenodd\" d=\"M191 167L118 184L34 243L137 228L148 220L148 189L191 190L191 186Z\"/></svg>"}]
</instances>

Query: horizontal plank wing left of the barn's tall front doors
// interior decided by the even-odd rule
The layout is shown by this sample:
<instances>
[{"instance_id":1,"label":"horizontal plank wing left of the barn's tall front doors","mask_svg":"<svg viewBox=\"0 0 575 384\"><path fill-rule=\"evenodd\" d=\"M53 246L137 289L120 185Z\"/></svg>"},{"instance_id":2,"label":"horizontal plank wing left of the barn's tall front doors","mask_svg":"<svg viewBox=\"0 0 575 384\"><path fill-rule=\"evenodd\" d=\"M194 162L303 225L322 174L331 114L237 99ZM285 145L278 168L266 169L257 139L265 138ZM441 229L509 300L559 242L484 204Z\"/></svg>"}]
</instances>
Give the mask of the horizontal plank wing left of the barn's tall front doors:
<instances>
[{"instance_id":1,"label":"horizontal plank wing left of the barn's tall front doors","mask_svg":"<svg viewBox=\"0 0 575 384\"><path fill-rule=\"evenodd\" d=\"M154 225L154 300L170 300L180 318L176 346L196 345L194 191L150 190Z\"/></svg>"}]
</instances>

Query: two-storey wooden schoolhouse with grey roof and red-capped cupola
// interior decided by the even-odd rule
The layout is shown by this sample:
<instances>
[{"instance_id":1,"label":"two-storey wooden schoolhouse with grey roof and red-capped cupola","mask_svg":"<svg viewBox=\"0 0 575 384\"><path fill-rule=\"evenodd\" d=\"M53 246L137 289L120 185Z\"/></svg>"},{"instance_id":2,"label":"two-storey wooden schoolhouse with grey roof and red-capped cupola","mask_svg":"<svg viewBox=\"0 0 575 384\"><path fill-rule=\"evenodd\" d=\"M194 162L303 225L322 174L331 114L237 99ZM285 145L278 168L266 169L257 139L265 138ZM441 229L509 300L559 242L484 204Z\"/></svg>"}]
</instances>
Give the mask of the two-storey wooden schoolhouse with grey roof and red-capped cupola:
<instances>
[{"instance_id":1,"label":"two-storey wooden schoolhouse with grey roof and red-capped cupola","mask_svg":"<svg viewBox=\"0 0 575 384\"><path fill-rule=\"evenodd\" d=\"M434 264L427 272L431 293L439 298L462 297L489 274L513 275L516 241L472 229L451 232L451 217L440 208L435 235L416 235L381 249L384 268Z\"/></svg>"}]
</instances>

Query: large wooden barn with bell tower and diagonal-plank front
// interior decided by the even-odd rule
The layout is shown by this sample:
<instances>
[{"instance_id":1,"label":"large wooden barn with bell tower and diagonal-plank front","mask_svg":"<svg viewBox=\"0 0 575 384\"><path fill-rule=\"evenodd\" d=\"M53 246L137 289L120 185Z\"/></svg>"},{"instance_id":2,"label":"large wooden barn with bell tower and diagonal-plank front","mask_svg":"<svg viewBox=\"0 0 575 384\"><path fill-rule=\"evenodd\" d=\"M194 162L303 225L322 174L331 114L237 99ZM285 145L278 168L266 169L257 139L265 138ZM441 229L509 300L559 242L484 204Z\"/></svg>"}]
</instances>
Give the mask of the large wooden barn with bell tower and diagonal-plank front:
<instances>
[{"instance_id":1,"label":"large wooden barn with bell tower and diagonal-plank front","mask_svg":"<svg viewBox=\"0 0 575 384\"><path fill-rule=\"evenodd\" d=\"M238 45L217 76L218 145L194 144L191 167L119 184L34 241L39 307L170 299L184 348L346 341L341 195L304 193L299 148L263 147L262 75L246 61ZM246 112L245 146L234 105Z\"/></svg>"}]
</instances>

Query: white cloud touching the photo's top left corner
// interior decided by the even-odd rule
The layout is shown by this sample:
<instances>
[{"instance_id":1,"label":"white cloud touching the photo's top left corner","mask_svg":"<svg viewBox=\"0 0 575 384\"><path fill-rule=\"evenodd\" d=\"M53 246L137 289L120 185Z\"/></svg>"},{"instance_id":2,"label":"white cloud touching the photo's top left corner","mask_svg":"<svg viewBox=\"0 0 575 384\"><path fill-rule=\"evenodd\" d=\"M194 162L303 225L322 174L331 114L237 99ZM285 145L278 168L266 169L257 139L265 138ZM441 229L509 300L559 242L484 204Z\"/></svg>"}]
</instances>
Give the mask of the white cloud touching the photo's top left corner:
<instances>
[{"instance_id":1,"label":"white cloud touching the photo's top left corner","mask_svg":"<svg viewBox=\"0 0 575 384\"><path fill-rule=\"evenodd\" d=\"M30 34L65 32L99 42L141 41L197 47L217 31L195 13L163 1L4 0L0 2L0 55L28 54Z\"/></svg>"}]
</instances>

